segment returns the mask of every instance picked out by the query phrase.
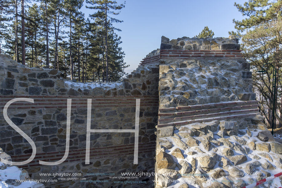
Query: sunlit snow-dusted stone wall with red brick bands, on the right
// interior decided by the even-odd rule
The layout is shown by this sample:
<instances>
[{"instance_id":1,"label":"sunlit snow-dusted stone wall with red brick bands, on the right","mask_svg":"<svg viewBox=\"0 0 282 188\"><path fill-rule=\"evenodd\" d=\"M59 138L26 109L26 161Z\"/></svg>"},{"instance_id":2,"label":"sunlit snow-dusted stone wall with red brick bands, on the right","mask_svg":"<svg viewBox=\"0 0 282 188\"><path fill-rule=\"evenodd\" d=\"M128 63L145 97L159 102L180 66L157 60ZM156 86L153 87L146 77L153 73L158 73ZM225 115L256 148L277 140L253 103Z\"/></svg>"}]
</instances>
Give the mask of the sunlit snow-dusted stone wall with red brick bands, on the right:
<instances>
[{"instance_id":1,"label":"sunlit snow-dusted stone wall with red brick bands, on the right","mask_svg":"<svg viewBox=\"0 0 282 188\"><path fill-rule=\"evenodd\" d=\"M239 47L233 37L162 37L156 188L244 187L281 172L282 145L266 129Z\"/></svg>"}]
</instances>

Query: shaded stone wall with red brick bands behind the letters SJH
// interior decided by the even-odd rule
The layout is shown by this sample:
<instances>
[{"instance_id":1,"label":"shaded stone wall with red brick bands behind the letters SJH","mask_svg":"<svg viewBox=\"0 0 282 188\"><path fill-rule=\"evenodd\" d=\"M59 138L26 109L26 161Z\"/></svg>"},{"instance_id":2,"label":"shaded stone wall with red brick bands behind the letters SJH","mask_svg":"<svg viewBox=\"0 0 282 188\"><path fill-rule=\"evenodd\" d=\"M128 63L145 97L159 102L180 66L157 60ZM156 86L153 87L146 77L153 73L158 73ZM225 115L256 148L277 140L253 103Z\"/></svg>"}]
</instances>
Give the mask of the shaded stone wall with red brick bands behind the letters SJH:
<instances>
[{"instance_id":1,"label":"shaded stone wall with red brick bands behind the letters SJH","mask_svg":"<svg viewBox=\"0 0 282 188\"><path fill-rule=\"evenodd\" d=\"M119 82L80 83L63 80L58 70L29 68L0 55L0 106L14 98L32 98L34 103L12 103L8 117L23 130L37 147L34 160L20 166L31 178L42 179L39 173L70 173L75 171L85 180L101 181L95 184L80 181L46 183L46 187L108 187L119 186L109 175L91 176L87 173L151 172L154 170L155 126L158 113L157 63L143 65ZM55 162L62 158L66 148L67 99L72 99L70 122L70 152L60 165L40 165L39 160ZM134 133L91 133L90 165L85 164L87 99L92 99L91 129L134 129L136 99L140 99L138 165L133 164ZM1 111L3 114L3 110ZM12 156L14 162L30 157L30 144L0 116L0 147ZM47 176L43 179L58 179ZM68 177L64 177L68 178ZM71 177L70 177L71 178ZM141 176L152 186L152 176ZM122 179L123 180L123 179ZM129 180L129 179L124 179ZM108 181L108 182L102 182ZM135 183L131 186L137 186Z\"/></svg>"}]
</instances>

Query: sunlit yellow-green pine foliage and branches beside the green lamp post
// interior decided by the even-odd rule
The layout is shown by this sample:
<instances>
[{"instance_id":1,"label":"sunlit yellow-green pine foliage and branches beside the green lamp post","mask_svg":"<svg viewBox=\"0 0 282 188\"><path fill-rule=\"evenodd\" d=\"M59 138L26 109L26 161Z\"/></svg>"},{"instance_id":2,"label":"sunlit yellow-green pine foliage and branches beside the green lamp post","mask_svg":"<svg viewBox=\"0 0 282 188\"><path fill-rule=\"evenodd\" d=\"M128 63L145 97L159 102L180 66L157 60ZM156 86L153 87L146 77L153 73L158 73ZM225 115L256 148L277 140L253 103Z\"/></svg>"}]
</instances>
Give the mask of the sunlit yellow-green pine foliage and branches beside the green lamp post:
<instances>
[{"instance_id":1,"label":"sunlit yellow-green pine foliage and branches beside the green lamp post","mask_svg":"<svg viewBox=\"0 0 282 188\"><path fill-rule=\"evenodd\" d=\"M282 17L282 1L281 0L277 0L277 1L248 0L248 2L245 2L243 6L237 3L235 3L235 6L242 13L242 15L247 16L247 18L241 21L233 19L233 23L235 23L236 32L231 31L229 32L229 34L237 35L239 38L241 37L244 38L246 31L248 31L248 33L251 32L251 30L258 31L261 29L261 27L266 27L265 29L270 29L268 27L275 28L275 24L273 23L277 23L277 21L279 22L279 20ZM269 23L271 24L267 25ZM277 38L276 35L273 35L274 34L273 32L272 33L270 32L270 34L272 34L272 36L260 37L260 35L252 35L251 37L252 40L261 41L261 42L256 43L257 45L256 48L253 48L252 45L250 45L250 43L247 42L248 40L246 38L243 40L243 44L241 45L243 46L242 48L243 54L248 59L248 61L251 63L251 66L255 69L259 69L261 66L263 66L264 63L272 63L273 65L276 66L277 69L279 69L280 67L280 59L273 59L273 60L268 59L268 61L265 62L264 61L265 57L261 56L260 50L258 50L258 49L266 47L265 42L268 43L267 41L269 40L269 38ZM255 39L254 37L257 37L257 38ZM280 51L279 46L281 45L277 42L275 43L275 45L276 45L274 46L275 50L272 51L273 53L271 53L272 56L276 56L275 53L278 53ZM248 58L252 56L256 57L257 59ZM278 87L281 81L279 74L280 73L278 72L277 77L276 77L277 80L276 80L276 98L275 99L273 99L273 93L272 93L271 87L268 87L267 90L264 89L264 90L261 90L261 92L259 92L260 99L263 98L262 96L266 94L266 92L271 94L272 97L268 98L266 101L269 104L271 104L273 100L275 100L277 104L278 90L279 90ZM255 80L255 82L259 82L259 80L256 80L259 78L254 76L253 79ZM260 91L259 86L254 85L254 90ZM260 103L263 104L262 101L260 101ZM271 105L268 105L268 107L270 106ZM274 111L276 112L277 107L281 108L281 106L282 106L282 100L281 100L280 106L278 104L274 106ZM261 106L261 109L264 109L264 106ZM266 115L266 117L270 116L271 110L272 108L268 110L268 115ZM277 114L276 114L276 118L280 121L280 124L281 124L282 120L279 119ZM276 124L276 120L274 120L274 124Z\"/></svg>"}]
</instances>

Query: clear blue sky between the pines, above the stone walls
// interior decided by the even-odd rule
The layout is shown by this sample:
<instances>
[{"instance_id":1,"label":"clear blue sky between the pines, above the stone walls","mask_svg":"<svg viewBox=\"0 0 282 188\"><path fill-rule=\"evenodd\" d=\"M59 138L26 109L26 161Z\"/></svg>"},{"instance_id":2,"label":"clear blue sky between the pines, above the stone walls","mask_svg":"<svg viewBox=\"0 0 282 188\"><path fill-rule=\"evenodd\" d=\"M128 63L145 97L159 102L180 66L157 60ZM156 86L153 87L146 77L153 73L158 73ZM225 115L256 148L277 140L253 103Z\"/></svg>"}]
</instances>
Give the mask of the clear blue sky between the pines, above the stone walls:
<instances>
[{"instance_id":1,"label":"clear blue sky between the pines, above the stone walls","mask_svg":"<svg viewBox=\"0 0 282 188\"><path fill-rule=\"evenodd\" d=\"M244 4L247 0L236 0ZM119 4L124 1L117 0ZM115 27L121 36L124 61L130 73L149 52L160 48L161 36L169 39L194 37L205 26L214 32L214 37L228 37L235 30L232 20L244 17L234 6L233 0L127 0L125 8L115 18L123 20ZM84 3L85 6L85 3ZM85 7L85 16L92 11Z\"/></svg>"}]
</instances>

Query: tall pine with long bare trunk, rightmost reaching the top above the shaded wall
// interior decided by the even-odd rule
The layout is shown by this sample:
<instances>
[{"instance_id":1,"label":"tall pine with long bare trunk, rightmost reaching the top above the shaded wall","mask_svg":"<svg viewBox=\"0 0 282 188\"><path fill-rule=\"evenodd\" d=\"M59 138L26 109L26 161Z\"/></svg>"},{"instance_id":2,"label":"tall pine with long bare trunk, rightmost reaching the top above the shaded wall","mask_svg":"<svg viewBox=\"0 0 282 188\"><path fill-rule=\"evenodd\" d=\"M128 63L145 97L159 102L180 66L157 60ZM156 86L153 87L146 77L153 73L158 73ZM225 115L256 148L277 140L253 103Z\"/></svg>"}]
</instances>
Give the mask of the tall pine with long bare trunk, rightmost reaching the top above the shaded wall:
<instances>
[{"instance_id":1,"label":"tall pine with long bare trunk, rightmost reaching the top above the shaded wall","mask_svg":"<svg viewBox=\"0 0 282 188\"><path fill-rule=\"evenodd\" d=\"M109 17L109 14L118 15L119 12L115 10L121 10L124 4L117 5L116 1L109 0L86 0L86 3L96 6L86 6L89 9L98 10L97 13L91 14L90 17L97 19L97 23L102 25L105 28L105 64L106 64L106 82L109 81L109 57L108 57L108 30L113 22L122 22L121 20Z\"/></svg>"}]
</instances>

